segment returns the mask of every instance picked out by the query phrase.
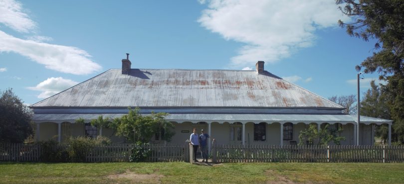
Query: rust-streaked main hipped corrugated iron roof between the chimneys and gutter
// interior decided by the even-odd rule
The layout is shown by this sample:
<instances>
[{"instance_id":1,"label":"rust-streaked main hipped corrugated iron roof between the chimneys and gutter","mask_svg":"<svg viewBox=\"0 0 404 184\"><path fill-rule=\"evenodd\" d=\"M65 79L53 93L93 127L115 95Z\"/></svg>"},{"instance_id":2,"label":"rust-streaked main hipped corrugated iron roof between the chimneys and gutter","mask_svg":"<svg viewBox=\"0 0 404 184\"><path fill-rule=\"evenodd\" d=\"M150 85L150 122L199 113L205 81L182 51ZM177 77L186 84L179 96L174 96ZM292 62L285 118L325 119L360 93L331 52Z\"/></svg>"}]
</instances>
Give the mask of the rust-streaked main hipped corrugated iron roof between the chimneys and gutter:
<instances>
[{"instance_id":1,"label":"rust-streaked main hipped corrugated iron roof between the chimneys and gutter","mask_svg":"<svg viewBox=\"0 0 404 184\"><path fill-rule=\"evenodd\" d=\"M108 70L31 107L329 107L342 106L269 72Z\"/></svg>"}]
</instances>

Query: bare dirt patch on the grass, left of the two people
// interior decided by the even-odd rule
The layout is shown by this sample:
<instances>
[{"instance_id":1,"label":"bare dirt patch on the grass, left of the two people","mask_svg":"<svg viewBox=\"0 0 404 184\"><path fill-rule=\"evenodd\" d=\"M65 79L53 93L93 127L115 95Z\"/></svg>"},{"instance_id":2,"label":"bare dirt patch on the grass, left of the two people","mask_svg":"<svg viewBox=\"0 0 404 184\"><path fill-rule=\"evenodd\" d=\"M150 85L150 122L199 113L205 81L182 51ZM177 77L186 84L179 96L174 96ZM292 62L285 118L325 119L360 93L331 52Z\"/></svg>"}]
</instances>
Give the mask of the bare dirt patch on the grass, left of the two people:
<instances>
[{"instance_id":1,"label":"bare dirt patch on the grass, left of the two people","mask_svg":"<svg viewBox=\"0 0 404 184\"><path fill-rule=\"evenodd\" d=\"M160 179L163 178L163 175L156 174L136 174L134 172L126 171L126 173L118 174L118 175L110 175L107 178L111 180L128 180L131 183L153 183L160 184Z\"/></svg>"}]
</instances>

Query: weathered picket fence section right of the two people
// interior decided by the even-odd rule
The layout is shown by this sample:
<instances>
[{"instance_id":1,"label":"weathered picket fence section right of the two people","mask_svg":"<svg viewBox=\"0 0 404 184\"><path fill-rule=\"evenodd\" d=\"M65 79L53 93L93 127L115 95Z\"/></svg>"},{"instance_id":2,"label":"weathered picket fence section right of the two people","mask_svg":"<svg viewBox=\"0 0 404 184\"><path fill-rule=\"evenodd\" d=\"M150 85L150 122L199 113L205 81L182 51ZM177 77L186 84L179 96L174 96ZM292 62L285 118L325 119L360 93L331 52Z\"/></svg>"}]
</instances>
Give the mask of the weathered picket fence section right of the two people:
<instances>
[{"instance_id":1,"label":"weathered picket fence section right of the two people","mask_svg":"<svg viewBox=\"0 0 404 184\"><path fill-rule=\"evenodd\" d=\"M214 145L212 162L404 162L404 146Z\"/></svg>"}]
</instances>

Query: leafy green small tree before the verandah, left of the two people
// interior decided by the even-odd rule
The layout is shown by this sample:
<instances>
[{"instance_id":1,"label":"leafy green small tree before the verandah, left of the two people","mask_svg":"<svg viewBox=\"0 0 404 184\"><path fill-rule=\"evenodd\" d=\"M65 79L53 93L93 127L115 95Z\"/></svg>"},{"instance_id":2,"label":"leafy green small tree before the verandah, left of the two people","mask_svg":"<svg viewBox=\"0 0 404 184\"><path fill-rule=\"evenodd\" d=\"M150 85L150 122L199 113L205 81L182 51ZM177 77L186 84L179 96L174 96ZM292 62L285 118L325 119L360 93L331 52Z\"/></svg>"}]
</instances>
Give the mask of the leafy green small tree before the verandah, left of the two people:
<instances>
[{"instance_id":1,"label":"leafy green small tree before the verandah, left of the two people","mask_svg":"<svg viewBox=\"0 0 404 184\"><path fill-rule=\"evenodd\" d=\"M167 113L154 113L143 116L139 114L139 108L129 108L129 113L123 115L121 118L114 119L117 127L117 135L125 137L130 142L148 143L151 138L164 132L161 135L162 140L171 141L174 135L174 125L165 120Z\"/></svg>"}]
</instances>

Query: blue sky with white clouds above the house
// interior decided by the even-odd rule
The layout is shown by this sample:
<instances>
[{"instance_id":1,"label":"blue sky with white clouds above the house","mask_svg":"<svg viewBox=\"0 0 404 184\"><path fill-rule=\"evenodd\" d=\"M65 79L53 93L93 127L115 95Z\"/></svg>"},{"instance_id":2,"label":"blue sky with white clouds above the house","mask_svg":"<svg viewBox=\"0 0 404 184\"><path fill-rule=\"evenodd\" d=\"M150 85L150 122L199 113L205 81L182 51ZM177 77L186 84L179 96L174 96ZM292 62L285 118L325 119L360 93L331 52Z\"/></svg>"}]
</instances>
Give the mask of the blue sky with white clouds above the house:
<instances>
[{"instance_id":1,"label":"blue sky with white clouds above the house","mask_svg":"<svg viewBox=\"0 0 404 184\"><path fill-rule=\"evenodd\" d=\"M265 70L323 97L356 94L374 41L334 0L0 0L0 90L27 104L108 69ZM366 74L361 91L377 79Z\"/></svg>"}]
</instances>

